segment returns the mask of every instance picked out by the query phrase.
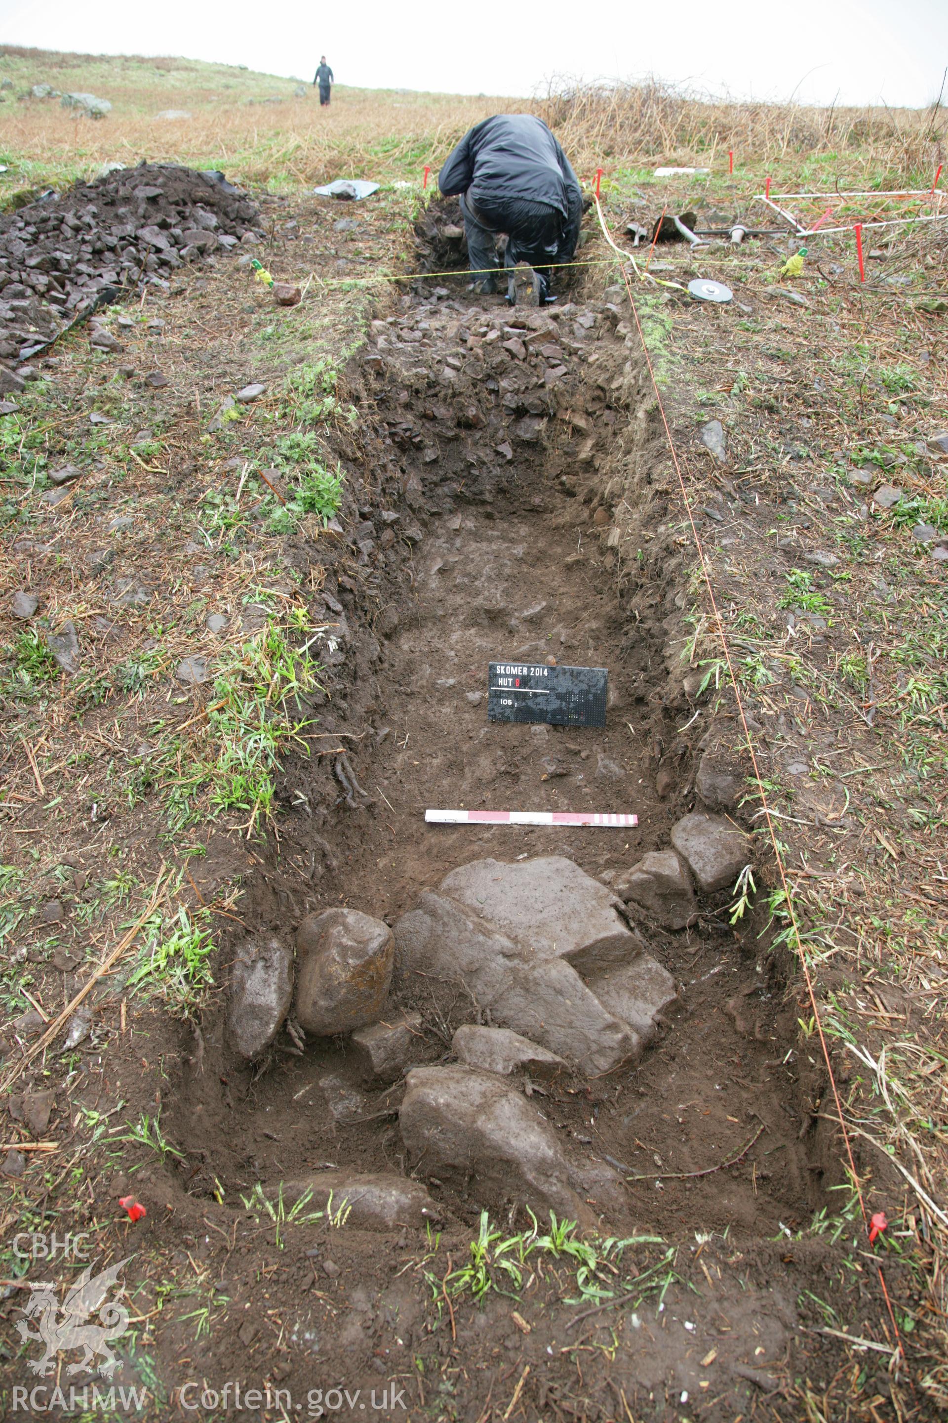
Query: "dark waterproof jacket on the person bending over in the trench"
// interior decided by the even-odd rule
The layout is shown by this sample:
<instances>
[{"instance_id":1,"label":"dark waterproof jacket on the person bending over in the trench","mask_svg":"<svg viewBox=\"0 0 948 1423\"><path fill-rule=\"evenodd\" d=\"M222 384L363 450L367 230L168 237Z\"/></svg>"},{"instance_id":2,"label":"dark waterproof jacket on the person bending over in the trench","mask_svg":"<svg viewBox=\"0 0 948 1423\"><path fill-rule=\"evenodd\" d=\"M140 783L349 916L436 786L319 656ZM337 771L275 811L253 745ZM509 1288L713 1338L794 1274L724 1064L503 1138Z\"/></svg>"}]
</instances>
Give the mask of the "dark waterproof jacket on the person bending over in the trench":
<instances>
[{"instance_id":1,"label":"dark waterproof jacket on the person bending over in the trench","mask_svg":"<svg viewBox=\"0 0 948 1423\"><path fill-rule=\"evenodd\" d=\"M546 202L569 219L583 195L570 161L542 118L495 114L465 134L438 174L445 198L463 192L485 213L509 199ZM577 223L578 226L578 223Z\"/></svg>"}]
</instances>

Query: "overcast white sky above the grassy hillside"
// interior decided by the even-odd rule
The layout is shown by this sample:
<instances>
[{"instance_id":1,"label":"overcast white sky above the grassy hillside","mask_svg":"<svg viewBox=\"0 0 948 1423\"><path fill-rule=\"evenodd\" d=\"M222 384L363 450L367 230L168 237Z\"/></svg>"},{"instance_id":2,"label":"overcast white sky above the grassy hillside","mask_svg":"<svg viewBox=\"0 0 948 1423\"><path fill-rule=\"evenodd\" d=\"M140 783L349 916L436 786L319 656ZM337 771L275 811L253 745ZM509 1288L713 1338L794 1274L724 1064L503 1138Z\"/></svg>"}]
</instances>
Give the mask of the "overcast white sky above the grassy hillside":
<instances>
[{"instance_id":1,"label":"overcast white sky above the grassy hillside","mask_svg":"<svg viewBox=\"0 0 948 1423\"><path fill-rule=\"evenodd\" d=\"M655 74L736 98L921 107L948 65L948 0L0 0L0 41L301 78L325 53L340 83L372 88L526 97L554 75Z\"/></svg>"}]
</instances>

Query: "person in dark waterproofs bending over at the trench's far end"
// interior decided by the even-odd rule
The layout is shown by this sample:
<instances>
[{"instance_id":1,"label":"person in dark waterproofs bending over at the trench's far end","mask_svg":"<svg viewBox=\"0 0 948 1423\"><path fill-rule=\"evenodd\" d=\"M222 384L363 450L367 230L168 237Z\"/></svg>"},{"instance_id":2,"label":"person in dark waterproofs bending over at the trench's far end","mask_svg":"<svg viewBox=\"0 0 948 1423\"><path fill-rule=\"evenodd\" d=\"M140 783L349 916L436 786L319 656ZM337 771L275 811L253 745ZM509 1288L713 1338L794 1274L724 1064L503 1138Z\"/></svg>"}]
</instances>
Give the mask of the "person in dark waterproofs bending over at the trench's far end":
<instances>
[{"instance_id":1,"label":"person in dark waterproofs bending over at the trench's far end","mask_svg":"<svg viewBox=\"0 0 948 1423\"><path fill-rule=\"evenodd\" d=\"M550 268L570 262L583 195L570 161L543 120L495 114L465 134L438 175L445 198L460 195L476 292L496 292L496 238L506 233L505 266L533 268L540 305L553 300ZM507 300L516 300L513 273Z\"/></svg>"}]
</instances>

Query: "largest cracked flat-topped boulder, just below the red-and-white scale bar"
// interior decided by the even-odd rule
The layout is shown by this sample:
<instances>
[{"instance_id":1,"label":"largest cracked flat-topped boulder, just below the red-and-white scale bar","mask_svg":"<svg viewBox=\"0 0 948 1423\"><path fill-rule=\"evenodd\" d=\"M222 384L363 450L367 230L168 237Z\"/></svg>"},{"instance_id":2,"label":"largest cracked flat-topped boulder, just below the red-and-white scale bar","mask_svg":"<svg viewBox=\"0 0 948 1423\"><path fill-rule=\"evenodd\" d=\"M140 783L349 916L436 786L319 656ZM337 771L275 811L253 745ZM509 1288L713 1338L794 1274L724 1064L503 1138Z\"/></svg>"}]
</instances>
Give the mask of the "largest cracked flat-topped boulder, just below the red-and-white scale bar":
<instances>
[{"instance_id":1,"label":"largest cracked flat-topped boulder, just below the red-and-white scale bar","mask_svg":"<svg viewBox=\"0 0 948 1423\"><path fill-rule=\"evenodd\" d=\"M590 1074L637 1057L675 1000L621 901L561 855L478 859L394 926L397 973Z\"/></svg>"}]
</instances>

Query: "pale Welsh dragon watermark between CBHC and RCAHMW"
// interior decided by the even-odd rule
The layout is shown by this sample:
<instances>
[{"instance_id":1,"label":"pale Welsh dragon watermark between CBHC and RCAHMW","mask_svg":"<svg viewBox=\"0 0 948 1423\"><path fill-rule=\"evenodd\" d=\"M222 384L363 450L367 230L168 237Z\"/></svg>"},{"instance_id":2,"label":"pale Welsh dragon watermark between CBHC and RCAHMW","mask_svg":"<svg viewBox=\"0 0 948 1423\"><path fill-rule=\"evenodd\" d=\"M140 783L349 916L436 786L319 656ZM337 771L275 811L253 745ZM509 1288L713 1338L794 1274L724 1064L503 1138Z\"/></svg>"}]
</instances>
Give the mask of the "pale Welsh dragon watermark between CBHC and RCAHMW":
<instances>
[{"instance_id":1,"label":"pale Welsh dragon watermark between CBHC and RCAHMW","mask_svg":"<svg viewBox=\"0 0 948 1423\"><path fill-rule=\"evenodd\" d=\"M43 1345L43 1356L27 1360L34 1373L51 1373L61 1349L82 1349L82 1358L78 1363L70 1363L65 1372L81 1373L98 1358L104 1360L98 1372L111 1377L119 1360L109 1349L109 1342L119 1339L128 1329L128 1309L119 1303L125 1284L118 1279L118 1274L131 1258L126 1255L118 1265L92 1278L92 1266L87 1265L63 1303L57 1299L55 1285L44 1282L30 1286L30 1299L23 1309L24 1318L17 1322L17 1333L24 1343L36 1339ZM118 1294L109 1299L112 1285L118 1285ZM98 1315L99 1322L88 1323L91 1315ZM36 1329L28 1328L28 1319L37 1321Z\"/></svg>"}]
</instances>

